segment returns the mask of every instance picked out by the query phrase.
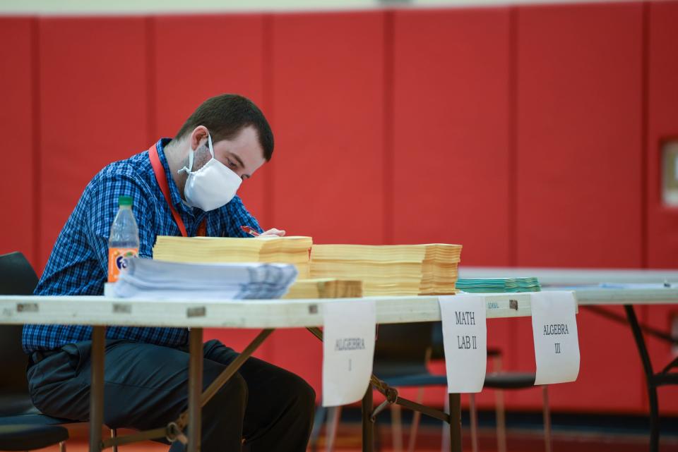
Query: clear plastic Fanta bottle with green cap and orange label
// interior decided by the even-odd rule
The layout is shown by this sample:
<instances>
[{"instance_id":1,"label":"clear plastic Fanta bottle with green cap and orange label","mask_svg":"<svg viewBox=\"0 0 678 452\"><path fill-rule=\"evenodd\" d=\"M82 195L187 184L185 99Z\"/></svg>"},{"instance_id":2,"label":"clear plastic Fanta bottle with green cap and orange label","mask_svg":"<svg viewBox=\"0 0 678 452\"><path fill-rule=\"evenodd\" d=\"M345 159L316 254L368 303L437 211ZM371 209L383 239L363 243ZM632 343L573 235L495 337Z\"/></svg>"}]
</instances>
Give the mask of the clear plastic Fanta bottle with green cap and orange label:
<instances>
[{"instance_id":1,"label":"clear plastic Fanta bottle with green cap and orange label","mask_svg":"<svg viewBox=\"0 0 678 452\"><path fill-rule=\"evenodd\" d=\"M127 267L127 259L139 254L139 229L132 213L132 197L119 197L118 206L108 240L109 283L118 280L120 270Z\"/></svg>"}]
</instances>

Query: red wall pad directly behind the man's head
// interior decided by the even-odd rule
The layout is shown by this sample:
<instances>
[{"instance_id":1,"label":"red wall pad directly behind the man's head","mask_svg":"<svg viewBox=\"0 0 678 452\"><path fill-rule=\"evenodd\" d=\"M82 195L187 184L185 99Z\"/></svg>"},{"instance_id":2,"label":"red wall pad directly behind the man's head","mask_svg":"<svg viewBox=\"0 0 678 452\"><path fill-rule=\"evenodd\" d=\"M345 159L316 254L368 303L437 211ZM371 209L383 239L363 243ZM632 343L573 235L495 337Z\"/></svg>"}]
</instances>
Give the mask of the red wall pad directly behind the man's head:
<instances>
[{"instance_id":1,"label":"red wall pad directly behind the man's head","mask_svg":"<svg viewBox=\"0 0 678 452\"><path fill-rule=\"evenodd\" d=\"M262 15L162 16L153 19L152 28L154 140L174 137L196 107L217 94L242 94L268 113L263 80L264 58L270 55L264 55ZM264 228L270 226L267 173L265 164L238 191Z\"/></svg>"}]
</instances>

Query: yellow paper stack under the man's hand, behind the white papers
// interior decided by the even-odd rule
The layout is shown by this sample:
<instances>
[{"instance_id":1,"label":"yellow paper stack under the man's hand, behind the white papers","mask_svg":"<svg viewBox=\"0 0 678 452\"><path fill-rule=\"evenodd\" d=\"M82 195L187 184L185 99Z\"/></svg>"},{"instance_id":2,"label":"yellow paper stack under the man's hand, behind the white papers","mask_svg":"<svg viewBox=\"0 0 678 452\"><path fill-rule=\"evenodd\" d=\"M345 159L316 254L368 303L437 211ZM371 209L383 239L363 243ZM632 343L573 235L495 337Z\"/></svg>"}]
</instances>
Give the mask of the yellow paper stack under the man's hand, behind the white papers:
<instances>
[{"instance_id":1,"label":"yellow paper stack under the man's hand, behind the white papers","mask_svg":"<svg viewBox=\"0 0 678 452\"><path fill-rule=\"evenodd\" d=\"M294 264L299 279L308 279L313 239L290 237L176 237L158 236L153 259L169 262L278 262Z\"/></svg>"}]
</instances>

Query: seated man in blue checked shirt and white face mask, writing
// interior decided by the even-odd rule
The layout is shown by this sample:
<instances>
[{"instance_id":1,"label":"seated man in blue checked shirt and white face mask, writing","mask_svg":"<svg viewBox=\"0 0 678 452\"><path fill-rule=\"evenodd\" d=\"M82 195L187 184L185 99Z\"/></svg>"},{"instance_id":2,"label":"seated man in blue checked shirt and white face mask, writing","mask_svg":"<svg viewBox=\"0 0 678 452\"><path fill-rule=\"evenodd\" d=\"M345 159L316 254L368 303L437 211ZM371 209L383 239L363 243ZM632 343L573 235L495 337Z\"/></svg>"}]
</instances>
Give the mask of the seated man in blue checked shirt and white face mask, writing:
<instances>
[{"instance_id":1,"label":"seated man in blue checked shirt and white face mask, writing","mask_svg":"<svg viewBox=\"0 0 678 452\"><path fill-rule=\"evenodd\" d=\"M188 236L200 231L245 236L244 225L261 232L234 193L272 154L273 133L249 99L223 94L206 100L174 140L163 138L148 151L109 164L90 181L35 294L102 295L120 195L133 197L141 257L152 257L156 236L179 236L182 228ZM89 326L24 327L30 395L43 413L88 420L91 333ZM107 328L104 420L109 427L153 429L186 409L187 343L186 329ZM206 388L237 353L219 341L206 343L203 352ZM203 451L240 451L243 442L250 451L305 451L314 403L305 381L250 358L203 408ZM182 448L175 442L170 451Z\"/></svg>"}]
</instances>

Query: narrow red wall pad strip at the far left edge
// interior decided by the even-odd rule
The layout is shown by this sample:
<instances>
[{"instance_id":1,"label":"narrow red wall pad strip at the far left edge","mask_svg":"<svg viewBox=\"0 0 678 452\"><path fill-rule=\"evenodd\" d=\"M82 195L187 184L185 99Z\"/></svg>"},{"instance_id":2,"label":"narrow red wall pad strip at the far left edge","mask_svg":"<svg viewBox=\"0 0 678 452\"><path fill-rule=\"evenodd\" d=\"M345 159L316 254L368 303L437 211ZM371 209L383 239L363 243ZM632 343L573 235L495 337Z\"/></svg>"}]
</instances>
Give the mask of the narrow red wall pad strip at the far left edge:
<instances>
[{"instance_id":1,"label":"narrow red wall pad strip at the far left edge","mask_svg":"<svg viewBox=\"0 0 678 452\"><path fill-rule=\"evenodd\" d=\"M35 255L35 150L39 130L35 127L33 90L35 20L0 18L0 135L5 137L4 159L8 171L0 178L4 193L4 219L0 254L20 251L37 265Z\"/></svg>"}]
</instances>

